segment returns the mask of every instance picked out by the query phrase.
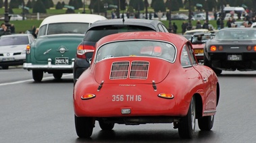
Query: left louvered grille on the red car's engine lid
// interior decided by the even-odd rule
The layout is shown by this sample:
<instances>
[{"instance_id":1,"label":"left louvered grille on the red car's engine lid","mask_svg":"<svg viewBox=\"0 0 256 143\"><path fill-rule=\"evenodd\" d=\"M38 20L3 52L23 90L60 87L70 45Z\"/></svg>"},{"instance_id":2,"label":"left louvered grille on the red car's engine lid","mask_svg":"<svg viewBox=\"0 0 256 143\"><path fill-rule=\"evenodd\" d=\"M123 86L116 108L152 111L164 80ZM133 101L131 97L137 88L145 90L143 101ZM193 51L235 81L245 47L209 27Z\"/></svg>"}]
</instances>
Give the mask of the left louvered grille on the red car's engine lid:
<instances>
[{"instance_id":1,"label":"left louvered grille on the red car's engine lid","mask_svg":"<svg viewBox=\"0 0 256 143\"><path fill-rule=\"evenodd\" d=\"M129 64L129 61L113 62L110 79L127 79Z\"/></svg>"}]
</instances>

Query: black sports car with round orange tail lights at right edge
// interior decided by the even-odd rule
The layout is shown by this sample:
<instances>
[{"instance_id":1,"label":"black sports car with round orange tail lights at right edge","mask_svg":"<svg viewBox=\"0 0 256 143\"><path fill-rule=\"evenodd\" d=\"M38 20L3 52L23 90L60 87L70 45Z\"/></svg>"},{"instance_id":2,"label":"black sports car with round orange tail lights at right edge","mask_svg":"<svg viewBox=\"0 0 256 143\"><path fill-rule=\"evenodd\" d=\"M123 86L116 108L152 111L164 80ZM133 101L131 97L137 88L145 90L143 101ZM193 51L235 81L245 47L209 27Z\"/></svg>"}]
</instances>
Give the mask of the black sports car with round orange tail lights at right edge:
<instances>
[{"instance_id":1,"label":"black sports car with round orange tail lights at right edge","mask_svg":"<svg viewBox=\"0 0 256 143\"><path fill-rule=\"evenodd\" d=\"M204 65L216 74L222 70L256 70L256 29L224 28L208 40L204 49Z\"/></svg>"}]
</instances>

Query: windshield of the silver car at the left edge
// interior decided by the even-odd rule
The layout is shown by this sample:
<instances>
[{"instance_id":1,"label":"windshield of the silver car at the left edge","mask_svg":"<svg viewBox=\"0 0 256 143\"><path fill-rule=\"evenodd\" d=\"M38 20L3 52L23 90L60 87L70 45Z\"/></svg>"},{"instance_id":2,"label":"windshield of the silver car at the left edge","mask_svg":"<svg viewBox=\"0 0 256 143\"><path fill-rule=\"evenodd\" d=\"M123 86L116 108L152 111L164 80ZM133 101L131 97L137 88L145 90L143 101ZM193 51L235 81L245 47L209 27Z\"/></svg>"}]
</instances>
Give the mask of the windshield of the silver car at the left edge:
<instances>
[{"instance_id":1,"label":"windshield of the silver car at the left edge","mask_svg":"<svg viewBox=\"0 0 256 143\"><path fill-rule=\"evenodd\" d=\"M0 46L9 45L26 45L28 44L28 36L8 36L0 38Z\"/></svg>"}]
</instances>

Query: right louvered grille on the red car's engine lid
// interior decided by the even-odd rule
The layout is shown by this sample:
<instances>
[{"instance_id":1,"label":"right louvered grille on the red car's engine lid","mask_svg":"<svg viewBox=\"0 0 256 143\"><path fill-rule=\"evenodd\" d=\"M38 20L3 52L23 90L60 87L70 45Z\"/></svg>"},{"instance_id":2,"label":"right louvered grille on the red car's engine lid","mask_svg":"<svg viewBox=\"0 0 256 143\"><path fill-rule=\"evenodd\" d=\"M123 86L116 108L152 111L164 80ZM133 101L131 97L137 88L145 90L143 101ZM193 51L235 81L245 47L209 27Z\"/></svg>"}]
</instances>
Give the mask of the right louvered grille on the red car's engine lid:
<instances>
[{"instance_id":1,"label":"right louvered grille on the red car's engine lid","mask_svg":"<svg viewBox=\"0 0 256 143\"><path fill-rule=\"evenodd\" d=\"M130 68L130 79L147 79L149 72L149 62L132 61Z\"/></svg>"}]
</instances>

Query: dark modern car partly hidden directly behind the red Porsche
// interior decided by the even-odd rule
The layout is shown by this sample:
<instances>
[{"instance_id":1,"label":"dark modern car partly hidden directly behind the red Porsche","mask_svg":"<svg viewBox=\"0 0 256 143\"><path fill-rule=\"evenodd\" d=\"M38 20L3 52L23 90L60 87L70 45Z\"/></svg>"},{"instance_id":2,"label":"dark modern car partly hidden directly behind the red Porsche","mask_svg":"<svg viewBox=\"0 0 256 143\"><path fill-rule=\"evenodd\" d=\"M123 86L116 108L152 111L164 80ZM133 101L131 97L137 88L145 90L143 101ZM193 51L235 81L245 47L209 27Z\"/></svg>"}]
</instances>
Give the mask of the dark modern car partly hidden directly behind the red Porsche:
<instances>
[{"instance_id":1,"label":"dark modern car partly hidden directly behind the red Porsche","mask_svg":"<svg viewBox=\"0 0 256 143\"><path fill-rule=\"evenodd\" d=\"M74 83L90 66L96 42L104 36L120 32L155 31L169 32L161 21L149 19L107 19L96 21L87 30L84 39L78 45L74 62Z\"/></svg>"}]
</instances>

